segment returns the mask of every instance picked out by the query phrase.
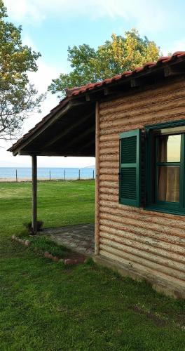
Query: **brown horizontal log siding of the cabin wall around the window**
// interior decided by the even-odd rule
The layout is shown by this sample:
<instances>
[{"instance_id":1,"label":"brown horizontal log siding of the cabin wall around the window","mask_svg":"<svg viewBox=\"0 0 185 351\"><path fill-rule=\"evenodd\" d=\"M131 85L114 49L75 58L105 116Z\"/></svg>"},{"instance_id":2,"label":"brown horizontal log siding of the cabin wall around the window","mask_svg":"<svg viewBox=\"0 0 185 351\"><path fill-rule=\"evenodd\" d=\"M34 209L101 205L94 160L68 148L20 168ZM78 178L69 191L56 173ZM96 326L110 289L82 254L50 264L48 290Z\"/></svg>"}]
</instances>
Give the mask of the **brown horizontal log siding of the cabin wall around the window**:
<instances>
[{"instance_id":1,"label":"brown horizontal log siding of the cabin wall around the window","mask_svg":"<svg viewBox=\"0 0 185 351\"><path fill-rule=\"evenodd\" d=\"M185 82L100 104L100 256L185 289L185 218L118 204L119 134L185 119Z\"/></svg>"}]
</instances>

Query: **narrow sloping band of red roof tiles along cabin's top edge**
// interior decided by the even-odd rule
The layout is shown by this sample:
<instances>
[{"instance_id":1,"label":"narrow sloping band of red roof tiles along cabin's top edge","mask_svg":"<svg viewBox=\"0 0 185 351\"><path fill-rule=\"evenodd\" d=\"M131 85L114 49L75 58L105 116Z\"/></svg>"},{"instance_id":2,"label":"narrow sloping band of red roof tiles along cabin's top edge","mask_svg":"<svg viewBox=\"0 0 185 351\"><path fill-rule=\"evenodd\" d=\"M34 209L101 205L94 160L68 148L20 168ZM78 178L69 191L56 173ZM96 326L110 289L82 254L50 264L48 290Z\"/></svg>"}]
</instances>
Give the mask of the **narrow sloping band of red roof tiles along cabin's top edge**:
<instances>
[{"instance_id":1,"label":"narrow sloping band of red roof tiles along cabin's top edge","mask_svg":"<svg viewBox=\"0 0 185 351\"><path fill-rule=\"evenodd\" d=\"M76 98L80 98L86 93L90 94L95 91L101 91L102 88L106 86L113 86L115 83L123 83L124 81L128 81L128 79L135 79L137 77L144 76L146 74L154 74L156 69L163 69L167 65L173 65L174 63L185 62L185 51L177 51L171 56L160 57L156 62L147 62L143 67L135 68L132 71L123 72L123 74L118 74L114 77L104 79L103 81L97 81L97 83L89 83L85 86L67 89L67 97L60 101L60 103L50 111L49 114L46 115L34 128L30 129L28 133L22 136L16 143L14 143L8 151L13 152L18 147L21 147L22 143L25 142L29 137L34 135L36 131L39 130L44 124L48 123L50 119L52 119L57 112L60 112L64 109L64 107L69 104L72 100L76 100ZM185 72L185 69L184 69Z\"/></svg>"}]
</instances>

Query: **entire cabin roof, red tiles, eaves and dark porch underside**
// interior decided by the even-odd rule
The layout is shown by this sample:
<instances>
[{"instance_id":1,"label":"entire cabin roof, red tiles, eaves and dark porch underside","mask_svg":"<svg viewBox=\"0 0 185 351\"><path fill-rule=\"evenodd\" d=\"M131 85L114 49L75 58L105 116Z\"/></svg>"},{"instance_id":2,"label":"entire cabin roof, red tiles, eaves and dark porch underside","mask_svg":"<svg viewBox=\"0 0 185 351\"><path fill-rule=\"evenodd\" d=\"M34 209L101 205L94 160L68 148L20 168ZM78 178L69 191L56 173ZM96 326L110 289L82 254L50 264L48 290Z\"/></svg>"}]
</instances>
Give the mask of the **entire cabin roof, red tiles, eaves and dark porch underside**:
<instances>
[{"instance_id":1,"label":"entire cabin roof, red tiles, eaves and dark porch underside","mask_svg":"<svg viewBox=\"0 0 185 351\"><path fill-rule=\"evenodd\" d=\"M95 103L138 93L156 84L185 77L185 53L160 58L132 72L81 88L69 89L67 98L50 111L8 151L13 155L95 156Z\"/></svg>"}]
</instances>

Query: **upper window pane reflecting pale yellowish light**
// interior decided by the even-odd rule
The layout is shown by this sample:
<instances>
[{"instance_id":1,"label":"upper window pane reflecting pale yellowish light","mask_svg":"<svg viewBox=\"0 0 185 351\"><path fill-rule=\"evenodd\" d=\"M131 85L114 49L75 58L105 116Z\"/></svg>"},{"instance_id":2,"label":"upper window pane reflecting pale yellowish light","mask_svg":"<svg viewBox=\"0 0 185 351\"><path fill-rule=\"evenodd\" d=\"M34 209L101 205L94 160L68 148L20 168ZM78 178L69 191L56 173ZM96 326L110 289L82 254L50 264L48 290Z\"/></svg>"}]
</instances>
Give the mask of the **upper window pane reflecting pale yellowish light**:
<instances>
[{"instance_id":1,"label":"upper window pane reflecting pale yellowish light","mask_svg":"<svg viewBox=\"0 0 185 351\"><path fill-rule=\"evenodd\" d=\"M179 162L181 158L181 135L158 136L158 162Z\"/></svg>"}]
</instances>

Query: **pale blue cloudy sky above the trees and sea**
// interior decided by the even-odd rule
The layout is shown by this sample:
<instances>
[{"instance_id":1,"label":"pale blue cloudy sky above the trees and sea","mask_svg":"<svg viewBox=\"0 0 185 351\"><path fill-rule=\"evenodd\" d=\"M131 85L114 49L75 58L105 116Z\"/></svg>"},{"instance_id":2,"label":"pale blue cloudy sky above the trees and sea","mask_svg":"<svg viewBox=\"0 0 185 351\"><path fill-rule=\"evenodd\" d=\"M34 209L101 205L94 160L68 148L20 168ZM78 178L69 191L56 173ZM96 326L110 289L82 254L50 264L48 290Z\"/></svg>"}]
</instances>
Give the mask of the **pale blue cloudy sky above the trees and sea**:
<instances>
[{"instance_id":1,"label":"pale blue cloudy sky above the trees and sea","mask_svg":"<svg viewBox=\"0 0 185 351\"><path fill-rule=\"evenodd\" d=\"M39 93L52 79L70 71L67 47L89 44L97 48L111 34L123 35L135 27L141 36L156 42L164 55L185 51L185 1L177 0L4 0L8 20L22 25L22 42L41 53L38 71L29 74ZM22 134L32 128L59 100L48 93L41 114L29 117ZM21 136L21 135L20 135ZM12 143L0 145L0 167L31 166L31 157L6 152ZM95 158L38 157L41 167L83 167Z\"/></svg>"}]
</instances>

